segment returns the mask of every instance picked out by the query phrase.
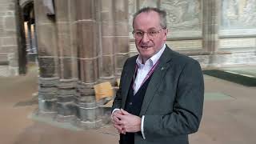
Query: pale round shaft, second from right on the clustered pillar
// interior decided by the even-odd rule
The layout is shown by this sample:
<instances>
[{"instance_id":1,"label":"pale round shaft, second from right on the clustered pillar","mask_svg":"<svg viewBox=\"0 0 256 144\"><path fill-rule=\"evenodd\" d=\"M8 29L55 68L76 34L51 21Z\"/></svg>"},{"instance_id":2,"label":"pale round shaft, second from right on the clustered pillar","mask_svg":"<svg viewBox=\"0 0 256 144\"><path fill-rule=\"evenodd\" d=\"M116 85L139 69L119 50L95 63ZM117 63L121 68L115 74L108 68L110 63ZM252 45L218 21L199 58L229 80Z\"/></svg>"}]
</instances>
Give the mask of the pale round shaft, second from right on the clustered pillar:
<instances>
[{"instance_id":1,"label":"pale round shaft, second from right on the clustered pillar","mask_svg":"<svg viewBox=\"0 0 256 144\"><path fill-rule=\"evenodd\" d=\"M102 81L114 79L114 3L101 0L102 47L100 58L100 78Z\"/></svg>"}]
</instances>

